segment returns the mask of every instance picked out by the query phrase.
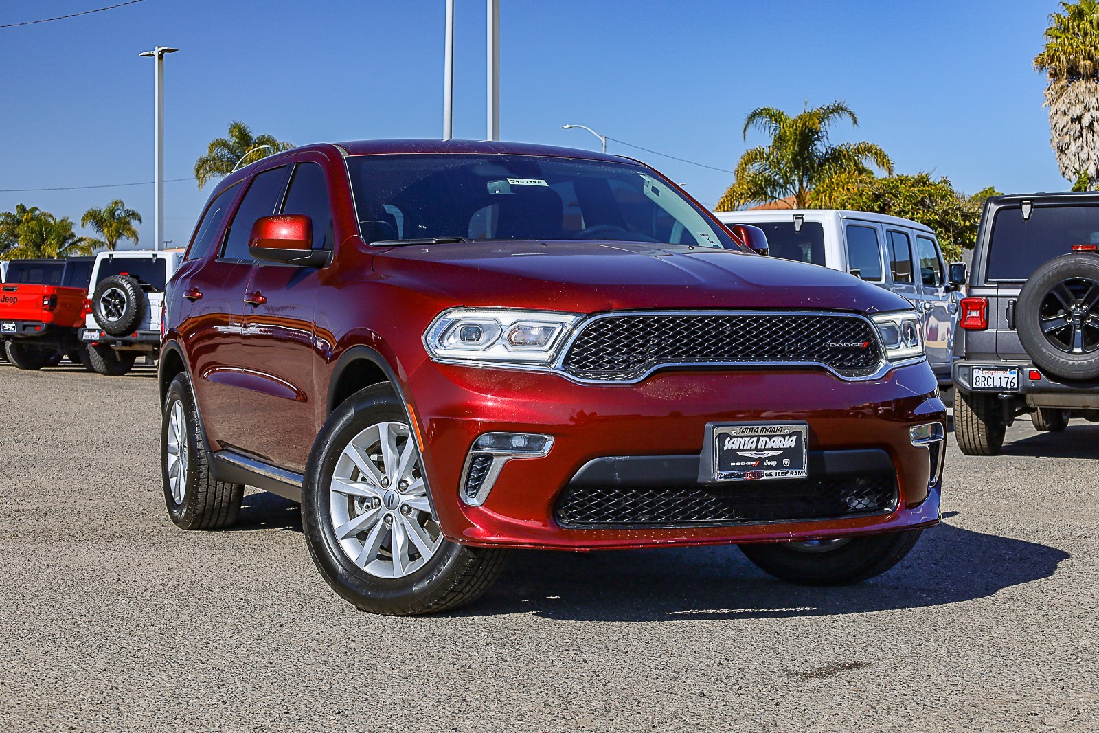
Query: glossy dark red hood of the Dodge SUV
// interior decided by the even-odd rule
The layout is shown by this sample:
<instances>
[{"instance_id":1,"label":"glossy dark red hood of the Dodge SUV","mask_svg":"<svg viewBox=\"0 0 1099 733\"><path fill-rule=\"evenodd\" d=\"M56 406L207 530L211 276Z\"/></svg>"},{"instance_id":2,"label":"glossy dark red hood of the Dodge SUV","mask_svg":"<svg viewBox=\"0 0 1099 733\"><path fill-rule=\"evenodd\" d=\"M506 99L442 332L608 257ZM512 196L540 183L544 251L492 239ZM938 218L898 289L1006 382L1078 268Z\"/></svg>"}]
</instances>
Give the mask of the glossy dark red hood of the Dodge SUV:
<instances>
[{"instance_id":1,"label":"glossy dark red hood of the Dodge SUV","mask_svg":"<svg viewBox=\"0 0 1099 733\"><path fill-rule=\"evenodd\" d=\"M471 308L592 313L621 309L911 308L856 277L748 252L635 242L495 241L384 249L395 285Z\"/></svg>"}]
</instances>

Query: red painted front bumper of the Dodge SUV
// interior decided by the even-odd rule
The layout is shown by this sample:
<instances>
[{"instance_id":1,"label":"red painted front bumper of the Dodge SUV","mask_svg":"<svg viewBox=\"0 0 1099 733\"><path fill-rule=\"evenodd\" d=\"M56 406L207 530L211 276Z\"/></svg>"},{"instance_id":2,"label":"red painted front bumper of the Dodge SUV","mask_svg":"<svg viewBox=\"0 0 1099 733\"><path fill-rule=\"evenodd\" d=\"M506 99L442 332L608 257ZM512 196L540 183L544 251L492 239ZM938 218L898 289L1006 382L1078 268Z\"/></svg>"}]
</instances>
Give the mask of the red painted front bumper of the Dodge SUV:
<instances>
[{"instance_id":1,"label":"red painted front bumper of the Dodge SUV","mask_svg":"<svg viewBox=\"0 0 1099 733\"><path fill-rule=\"evenodd\" d=\"M551 374L425 362L408 376L407 387L436 513L444 534L456 542L584 551L830 537L939 521L941 479L932 480L929 448L912 445L909 434L918 424L945 425L945 407L926 364L857 382L814 369L680 370L657 373L631 386L582 386ZM669 492L697 491L697 468L696 480L690 475L701 460L708 423L781 421L809 424L810 479L840 480L842 474L852 474L844 465L845 452L884 456L895 480L889 507L825 519L776 521L758 514L750 521L598 527L569 522L562 513L569 491L586 481L590 488L591 475L585 478L584 469L592 462L632 463L619 471L620 487L647 484L660 491L666 484ZM545 434L554 442L544 457L506 463L484 503L468 506L459 498L463 469L474 441L487 432ZM654 459L657 463L646 464ZM657 470L660 460L671 466L663 477ZM600 481L606 484L607 465L603 469ZM735 495L739 486L753 491L773 486L778 491L782 484L723 484L721 489L726 496Z\"/></svg>"}]
</instances>

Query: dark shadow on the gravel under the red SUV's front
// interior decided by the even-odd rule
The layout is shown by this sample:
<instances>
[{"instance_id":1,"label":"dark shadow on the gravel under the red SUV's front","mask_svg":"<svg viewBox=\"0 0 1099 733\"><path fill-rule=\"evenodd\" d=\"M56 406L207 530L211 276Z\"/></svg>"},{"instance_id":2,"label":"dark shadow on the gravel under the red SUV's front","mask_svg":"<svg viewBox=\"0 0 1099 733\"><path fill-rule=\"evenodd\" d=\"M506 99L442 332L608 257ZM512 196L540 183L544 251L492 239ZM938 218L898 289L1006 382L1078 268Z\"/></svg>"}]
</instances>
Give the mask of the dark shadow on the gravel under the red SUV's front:
<instances>
[{"instance_id":1,"label":"dark shadow on the gravel under the red SUV's front","mask_svg":"<svg viewBox=\"0 0 1099 733\"><path fill-rule=\"evenodd\" d=\"M732 546L517 551L481 600L456 613L697 621L917 609L986 598L1050 577L1068 557L1056 547L941 524L885 575L855 586L810 588L765 575Z\"/></svg>"}]
</instances>

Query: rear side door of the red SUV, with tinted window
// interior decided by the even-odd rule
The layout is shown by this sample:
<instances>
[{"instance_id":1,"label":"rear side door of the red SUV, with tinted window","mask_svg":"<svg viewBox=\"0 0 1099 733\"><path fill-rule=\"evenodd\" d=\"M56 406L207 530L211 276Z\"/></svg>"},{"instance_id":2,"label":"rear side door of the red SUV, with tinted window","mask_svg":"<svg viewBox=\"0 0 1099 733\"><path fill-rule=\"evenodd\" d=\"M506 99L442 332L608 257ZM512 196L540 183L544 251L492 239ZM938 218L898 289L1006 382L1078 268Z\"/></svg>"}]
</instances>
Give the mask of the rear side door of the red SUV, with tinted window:
<instances>
[{"instance_id":1,"label":"rear side door of the red SUV, with tinted window","mask_svg":"<svg viewBox=\"0 0 1099 733\"><path fill-rule=\"evenodd\" d=\"M220 249L184 286L192 300L184 338L195 368L195 390L208 435L222 446L240 448L253 426L241 415L241 395L249 378L244 365L244 296L254 262L248 235L259 216L275 212L288 166L256 173L221 237Z\"/></svg>"}]
</instances>

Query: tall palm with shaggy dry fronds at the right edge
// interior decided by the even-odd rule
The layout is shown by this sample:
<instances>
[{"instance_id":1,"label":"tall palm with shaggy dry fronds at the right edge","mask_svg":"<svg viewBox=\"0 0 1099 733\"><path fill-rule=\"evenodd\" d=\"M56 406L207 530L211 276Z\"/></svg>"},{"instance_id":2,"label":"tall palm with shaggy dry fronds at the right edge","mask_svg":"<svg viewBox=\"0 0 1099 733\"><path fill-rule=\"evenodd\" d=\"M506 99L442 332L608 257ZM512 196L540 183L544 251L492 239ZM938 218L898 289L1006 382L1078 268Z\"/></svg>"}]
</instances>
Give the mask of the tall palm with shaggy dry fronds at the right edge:
<instances>
[{"instance_id":1,"label":"tall palm with shaggy dry fronds at the right edge","mask_svg":"<svg viewBox=\"0 0 1099 733\"><path fill-rule=\"evenodd\" d=\"M1062 2L1050 15L1045 48L1034 68L1045 71L1050 144L1061 175L1080 189L1099 184L1099 2Z\"/></svg>"}]
</instances>

